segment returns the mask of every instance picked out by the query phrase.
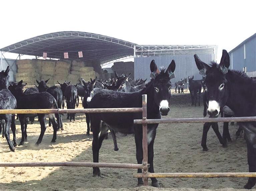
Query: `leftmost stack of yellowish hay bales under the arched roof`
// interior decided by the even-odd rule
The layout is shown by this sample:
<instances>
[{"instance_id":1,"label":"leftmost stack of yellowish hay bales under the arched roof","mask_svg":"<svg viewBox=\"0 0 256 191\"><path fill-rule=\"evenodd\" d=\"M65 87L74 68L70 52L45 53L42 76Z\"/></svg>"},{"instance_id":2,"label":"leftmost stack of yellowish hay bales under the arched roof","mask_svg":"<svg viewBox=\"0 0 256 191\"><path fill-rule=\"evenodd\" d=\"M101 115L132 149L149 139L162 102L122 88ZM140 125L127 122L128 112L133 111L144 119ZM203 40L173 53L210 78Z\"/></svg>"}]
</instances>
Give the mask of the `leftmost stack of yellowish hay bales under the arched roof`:
<instances>
[{"instance_id":1,"label":"leftmost stack of yellowish hay bales under the arched roof","mask_svg":"<svg viewBox=\"0 0 256 191\"><path fill-rule=\"evenodd\" d=\"M40 73L38 73L39 68L34 65L33 60L24 59L17 60L18 72L16 73L16 82L23 80L27 85L34 85L35 80L39 79Z\"/></svg>"}]
</instances>

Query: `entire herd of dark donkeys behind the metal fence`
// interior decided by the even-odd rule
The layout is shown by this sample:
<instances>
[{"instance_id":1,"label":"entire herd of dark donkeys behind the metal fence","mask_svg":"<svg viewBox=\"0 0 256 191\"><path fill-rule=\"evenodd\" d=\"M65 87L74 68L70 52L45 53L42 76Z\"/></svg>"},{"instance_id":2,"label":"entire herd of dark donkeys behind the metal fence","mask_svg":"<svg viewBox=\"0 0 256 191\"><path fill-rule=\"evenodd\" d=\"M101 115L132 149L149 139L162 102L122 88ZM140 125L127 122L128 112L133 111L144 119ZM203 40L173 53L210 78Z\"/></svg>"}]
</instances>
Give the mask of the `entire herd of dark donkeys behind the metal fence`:
<instances>
[{"instance_id":1,"label":"entire herd of dark donkeys behind the metal fence","mask_svg":"<svg viewBox=\"0 0 256 191\"><path fill-rule=\"evenodd\" d=\"M218 117L220 114L225 116L256 116L256 79L250 78L246 74L229 69L230 58L226 50L222 52L220 64L211 62L206 64L202 62L197 55L194 55L196 66L202 80L194 80L194 76L181 79L175 83L175 92L184 93L184 85L189 81L189 90L192 98L192 105L200 106L200 96L203 87L204 116ZM75 108L79 104L81 97L84 108L122 108L122 107L142 107L142 95L147 95L147 117L149 119L160 119L161 115L167 115L170 111L169 101L171 99L171 79L175 78L176 64L172 60L167 69L158 69L154 60L150 63L151 80L131 80L130 74L118 76L115 73L114 79L101 81L91 79L85 82L81 79L80 83L72 85L71 82L58 84L60 87L48 87L48 80L37 81L36 88L28 88L23 92L26 83L9 83L9 66L0 73L0 109L48 109L64 108L66 102L67 108ZM250 94L248 94L250 90ZM197 96L198 95L198 96ZM118 100L118 101L117 101ZM22 137L19 145L23 145L27 139L27 124L34 117L38 116L41 126L41 133L36 142L40 144L46 130L46 114L17 114L19 118ZM53 127L53 137L51 142L56 141L57 131L63 129L61 114L48 114L49 126ZM55 120L56 118L56 120ZM86 114L87 132L92 131L92 152L93 162L99 162L99 150L102 141L107 137L108 131L111 132L114 142L114 150L118 150L115 132L124 134L134 134L136 143L136 158L139 164L143 160L142 149L142 128L141 125L134 124L134 119L141 119L141 113L90 113ZM75 120L75 114L68 114L67 119ZM6 137L9 148L15 151L17 145L15 135L15 115L0 114L0 132ZM256 122L238 122L247 145L247 159L249 172L256 172ZM207 132L212 126L220 143L224 147L227 141L230 141L228 123L224 123L223 135L218 130L218 123L205 123L202 136L202 147L207 151L206 137ZM148 160L149 172L154 172L154 141L156 137L158 124L148 124ZM10 140L9 129L13 133L13 143ZM138 169L138 173L142 169ZM93 167L93 176L101 176L100 169ZM156 178L151 178L152 186L160 187ZM256 183L255 177L250 177L246 189L251 189ZM143 185L143 179L138 178L138 186Z\"/></svg>"}]
</instances>

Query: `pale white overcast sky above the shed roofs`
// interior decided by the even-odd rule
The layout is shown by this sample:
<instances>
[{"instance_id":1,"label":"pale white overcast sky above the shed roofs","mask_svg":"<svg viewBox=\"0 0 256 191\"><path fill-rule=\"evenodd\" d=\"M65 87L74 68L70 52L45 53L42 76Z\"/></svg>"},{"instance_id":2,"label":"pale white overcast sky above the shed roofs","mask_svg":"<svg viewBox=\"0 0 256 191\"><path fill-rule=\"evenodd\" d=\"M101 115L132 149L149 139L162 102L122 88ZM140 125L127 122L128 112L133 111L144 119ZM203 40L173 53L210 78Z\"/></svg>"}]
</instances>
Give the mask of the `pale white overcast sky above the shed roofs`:
<instances>
[{"instance_id":1,"label":"pale white overcast sky above the shed roofs","mask_svg":"<svg viewBox=\"0 0 256 191\"><path fill-rule=\"evenodd\" d=\"M1 1L0 48L46 33L82 31L140 45L218 45L220 60L222 49L256 33L255 7L254 0Z\"/></svg>"}]
</instances>

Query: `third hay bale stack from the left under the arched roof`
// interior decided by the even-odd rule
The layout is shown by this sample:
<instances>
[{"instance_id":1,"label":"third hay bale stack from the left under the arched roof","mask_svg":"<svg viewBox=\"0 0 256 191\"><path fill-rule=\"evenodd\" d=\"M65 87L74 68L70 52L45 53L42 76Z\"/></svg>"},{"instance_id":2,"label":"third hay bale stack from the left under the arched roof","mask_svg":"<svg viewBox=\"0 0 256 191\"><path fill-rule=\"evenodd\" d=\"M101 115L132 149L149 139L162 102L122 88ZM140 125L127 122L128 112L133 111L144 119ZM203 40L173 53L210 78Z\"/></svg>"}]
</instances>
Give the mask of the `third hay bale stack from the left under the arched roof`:
<instances>
[{"instance_id":1,"label":"third hay bale stack from the left under the arched roof","mask_svg":"<svg viewBox=\"0 0 256 191\"><path fill-rule=\"evenodd\" d=\"M65 80L68 80L70 67L71 67L70 60L66 60L66 59L58 60L55 66L54 83L57 83L57 81L59 81L60 83L63 83Z\"/></svg>"}]
</instances>

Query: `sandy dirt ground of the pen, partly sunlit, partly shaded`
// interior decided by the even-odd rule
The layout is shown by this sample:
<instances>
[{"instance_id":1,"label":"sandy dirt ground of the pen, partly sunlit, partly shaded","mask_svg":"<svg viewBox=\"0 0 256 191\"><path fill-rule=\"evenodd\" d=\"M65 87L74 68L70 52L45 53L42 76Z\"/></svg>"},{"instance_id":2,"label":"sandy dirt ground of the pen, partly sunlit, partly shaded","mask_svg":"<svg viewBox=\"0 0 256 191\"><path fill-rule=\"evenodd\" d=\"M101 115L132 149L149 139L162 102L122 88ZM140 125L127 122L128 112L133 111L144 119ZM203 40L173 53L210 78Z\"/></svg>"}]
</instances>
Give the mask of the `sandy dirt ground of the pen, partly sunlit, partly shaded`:
<instances>
[{"instance_id":1,"label":"sandy dirt ground of the pen, partly sunlit, partly shaded","mask_svg":"<svg viewBox=\"0 0 256 191\"><path fill-rule=\"evenodd\" d=\"M203 106L190 106L188 94L172 96L171 112L167 117L202 117ZM81 105L79 106L81 107ZM57 132L57 140L50 143L53 129L47 128L42 143L35 146L40 126L27 128L28 141L10 152L6 139L0 138L1 162L36 161L92 161L92 135L85 135L84 114L77 114L75 122L62 117L64 130ZM208 152L202 151L201 136L203 124L160 124L155 140L155 172L248 172L246 145L243 138L234 140L237 126L230 126L233 142L223 148L213 130L208 133ZM222 133L222 124L219 124ZM18 142L21 138L19 122L16 120ZM12 134L11 134L12 137ZM110 136L111 137L111 136ZM112 139L104 140L100 149L100 162L137 163L135 141L132 135L117 134L119 151L113 150ZM92 177L92 168L86 167L1 167L0 190L216 190L234 191L242 189L247 178L163 178L158 179L161 189L136 187L133 178L135 169L102 168L102 177ZM149 181L151 183L151 181ZM236 189L235 189L236 188ZM255 189L254 189L255 190Z\"/></svg>"}]
</instances>

